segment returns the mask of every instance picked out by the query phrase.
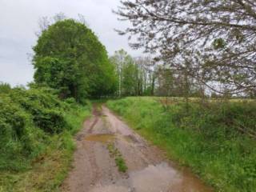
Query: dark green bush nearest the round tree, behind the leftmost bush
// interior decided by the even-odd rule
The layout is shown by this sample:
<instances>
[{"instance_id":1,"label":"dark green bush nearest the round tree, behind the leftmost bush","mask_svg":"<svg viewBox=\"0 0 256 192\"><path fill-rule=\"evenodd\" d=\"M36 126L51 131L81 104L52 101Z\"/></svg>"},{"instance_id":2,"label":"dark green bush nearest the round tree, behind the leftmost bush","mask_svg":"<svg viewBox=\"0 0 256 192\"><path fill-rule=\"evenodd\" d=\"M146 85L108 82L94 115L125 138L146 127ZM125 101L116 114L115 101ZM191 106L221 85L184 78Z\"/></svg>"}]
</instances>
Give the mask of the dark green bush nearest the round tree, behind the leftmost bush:
<instances>
[{"instance_id":1,"label":"dark green bush nearest the round tree, behind the leftmost bush","mask_svg":"<svg viewBox=\"0 0 256 192\"><path fill-rule=\"evenodd\" d=\"M34 126L48 134L62 132L67 127L63 116L65 105L49 89L14 89L9 97L31 114Z\"/></svg>"}]
</instances>

